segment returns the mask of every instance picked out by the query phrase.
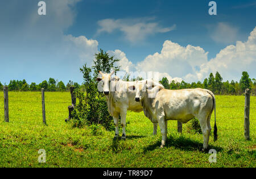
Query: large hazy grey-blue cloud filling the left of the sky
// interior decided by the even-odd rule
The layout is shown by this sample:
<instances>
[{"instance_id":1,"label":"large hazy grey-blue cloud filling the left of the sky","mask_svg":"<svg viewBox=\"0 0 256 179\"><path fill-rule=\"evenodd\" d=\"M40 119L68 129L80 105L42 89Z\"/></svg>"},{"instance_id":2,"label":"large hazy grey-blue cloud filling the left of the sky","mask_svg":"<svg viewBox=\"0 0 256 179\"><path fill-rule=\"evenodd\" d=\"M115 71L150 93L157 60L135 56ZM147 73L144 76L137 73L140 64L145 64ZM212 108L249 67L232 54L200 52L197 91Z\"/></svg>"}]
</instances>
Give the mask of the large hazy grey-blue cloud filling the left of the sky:
<instances>
[{"instance_id":1,"label":"large hazy grey-blue cloud filling the left of the sky","mask_svg":"<svg viewBox=\"0 0 256 179\"><path fill-rule=\"evenodd\" d=\"M41 16L39 1L0 2L0 59L6 59L1 61L6 68L0 81L24 78L39 83L54 77L82 82L79 68L92 63L98 41L64 34L76 18L79 1L46 0L46 15Z\"/></svg>"}]
</instances>

